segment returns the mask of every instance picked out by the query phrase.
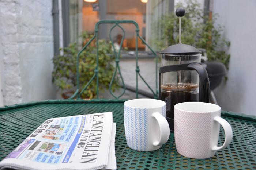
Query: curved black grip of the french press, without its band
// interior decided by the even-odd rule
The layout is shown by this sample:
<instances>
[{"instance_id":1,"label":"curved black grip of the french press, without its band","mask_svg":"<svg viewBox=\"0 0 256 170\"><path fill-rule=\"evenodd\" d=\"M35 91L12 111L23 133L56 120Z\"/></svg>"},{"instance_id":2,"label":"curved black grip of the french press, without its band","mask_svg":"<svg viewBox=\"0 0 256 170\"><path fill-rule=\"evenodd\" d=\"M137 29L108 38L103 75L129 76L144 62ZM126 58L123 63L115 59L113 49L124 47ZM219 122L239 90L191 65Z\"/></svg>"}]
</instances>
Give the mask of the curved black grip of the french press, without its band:
<instances>
[{"instance_id":1,"label":"curved black grip of the french press, without its band","mask_svg":"<svg viewBox=\"0 0 256 170\"><path fill-rule=\"evenodd\" d=\"M199 74L199 98L200 102L210 101L210 81L206 69L200 63L190 63L189 70L195 70Z\"/></svg>"}]
</instances>

